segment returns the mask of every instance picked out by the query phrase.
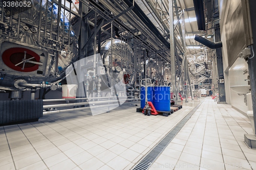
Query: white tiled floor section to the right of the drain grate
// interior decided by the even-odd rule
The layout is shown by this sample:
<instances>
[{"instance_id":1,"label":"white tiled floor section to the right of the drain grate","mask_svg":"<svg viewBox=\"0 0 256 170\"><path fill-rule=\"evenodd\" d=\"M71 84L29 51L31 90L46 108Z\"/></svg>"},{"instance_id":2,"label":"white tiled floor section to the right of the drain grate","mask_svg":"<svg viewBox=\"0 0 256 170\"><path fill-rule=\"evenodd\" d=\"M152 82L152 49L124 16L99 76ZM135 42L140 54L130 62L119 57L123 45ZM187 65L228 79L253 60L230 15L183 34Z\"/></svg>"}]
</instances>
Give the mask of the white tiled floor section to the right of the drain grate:
<instances>
[{"instance_id":1,"label":"white tiled floor section to the right of the drain grate","mask_svg":"<svg viewBox=\"0 0 256 170\"><path fill-rule=\"evenodd\" d=\"M256 169L246 133L248 117L206 98L150 169Z\"/></svg>"}]
</instances>

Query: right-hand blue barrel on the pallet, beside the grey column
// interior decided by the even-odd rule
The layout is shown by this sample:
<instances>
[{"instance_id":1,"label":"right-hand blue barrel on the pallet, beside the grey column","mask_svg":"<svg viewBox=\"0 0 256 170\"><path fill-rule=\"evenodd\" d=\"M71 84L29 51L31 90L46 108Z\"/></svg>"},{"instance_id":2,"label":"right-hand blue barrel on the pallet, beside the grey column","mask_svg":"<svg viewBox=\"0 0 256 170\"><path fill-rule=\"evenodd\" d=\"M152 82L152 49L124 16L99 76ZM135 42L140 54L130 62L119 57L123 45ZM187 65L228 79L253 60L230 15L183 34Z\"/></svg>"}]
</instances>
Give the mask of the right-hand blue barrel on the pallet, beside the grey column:
<instances>
[{"instance_id":1,"label":"right-hand blue barrel on the pallet, beside the grey column","mask_svg":"<svg viewBox=\"0 0 256 170\"><path fill-rule=\"evenodd\" d=\"M170 111L170 87L155 86L153 100L156 110Z\"/></svg>"}]
</instances>

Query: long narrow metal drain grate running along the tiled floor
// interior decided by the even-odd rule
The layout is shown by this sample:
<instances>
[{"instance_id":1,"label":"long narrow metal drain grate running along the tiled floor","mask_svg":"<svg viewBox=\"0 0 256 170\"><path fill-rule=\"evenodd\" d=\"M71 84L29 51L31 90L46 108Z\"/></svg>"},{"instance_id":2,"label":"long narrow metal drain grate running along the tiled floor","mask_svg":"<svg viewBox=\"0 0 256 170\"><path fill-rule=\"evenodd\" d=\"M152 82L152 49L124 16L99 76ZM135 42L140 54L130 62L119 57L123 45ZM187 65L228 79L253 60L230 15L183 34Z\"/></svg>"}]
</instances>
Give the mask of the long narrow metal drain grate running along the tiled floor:
<instances>
[{"instance_id":1,"label":"long narrow metal drain grate running along the tiled floor","mask_svg":"<svg viewBox=\"0 0 256 170\"><path fill-rule=\"evenodd\" d=\"M203 102L203 101L202 101ZM187 120L196 112L199 103L193 110L191 110L170 132L133 168L133 170L146 170L157 159L157 157L163 152L167 144L173 140L176 134L186 124Z\"/></svg>"}]
</instances>

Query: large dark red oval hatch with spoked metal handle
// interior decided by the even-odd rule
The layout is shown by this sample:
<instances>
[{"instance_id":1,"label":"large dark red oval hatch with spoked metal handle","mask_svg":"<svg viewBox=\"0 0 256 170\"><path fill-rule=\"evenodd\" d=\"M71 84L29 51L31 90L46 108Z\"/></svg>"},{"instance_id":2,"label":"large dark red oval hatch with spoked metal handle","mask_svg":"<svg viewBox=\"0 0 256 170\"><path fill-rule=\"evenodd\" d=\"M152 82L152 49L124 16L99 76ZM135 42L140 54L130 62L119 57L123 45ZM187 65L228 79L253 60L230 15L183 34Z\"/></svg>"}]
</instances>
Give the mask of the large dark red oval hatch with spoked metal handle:
<instances>
[{"instance_id":1,"label":"large dark red oval hatch with spoked metal handle","mask_svg":"<svg viewBox=\"0 0 256 170\"><path fill-rule=\"evenodd\" d=\"M22 62L24 59L25 51L26 51L26 59L30 59L34 57L29 61L35 61L35 62L40 61L40 56L38 56L35 52L28 50L27 48L20 48L20 47L9 48L3 53L2 59L8 67L16 71L31 72L31 71L37 70L39 66L38 64L28 63L28 62L25 63L24 69L22 69L24 63L20 63L20 62ZM15 66L18 63L20 64Z\"/></svg>"}]
</instances>

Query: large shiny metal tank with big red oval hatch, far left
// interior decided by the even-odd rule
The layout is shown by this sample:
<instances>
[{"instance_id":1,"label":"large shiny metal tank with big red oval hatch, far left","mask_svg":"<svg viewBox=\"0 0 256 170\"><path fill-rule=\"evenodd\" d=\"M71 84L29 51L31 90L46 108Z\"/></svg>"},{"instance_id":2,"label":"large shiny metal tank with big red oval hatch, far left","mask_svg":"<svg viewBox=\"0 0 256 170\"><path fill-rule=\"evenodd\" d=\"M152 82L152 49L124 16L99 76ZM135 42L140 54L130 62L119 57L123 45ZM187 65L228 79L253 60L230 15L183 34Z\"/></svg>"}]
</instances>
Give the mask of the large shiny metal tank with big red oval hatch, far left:
<instances>
[{"instance_id":1,"label":"large shiny metal tank with big red oval hatch, far left","mask_svg":"<svg viewBox=\"0 0 256 170\"><path fill-rule=\"evenodd\" d=\"M20 8L0 2L0 89L56 83L77 56L68 12L50 0L29 2L30 7Z\"/></svg>"}]
</instances>

